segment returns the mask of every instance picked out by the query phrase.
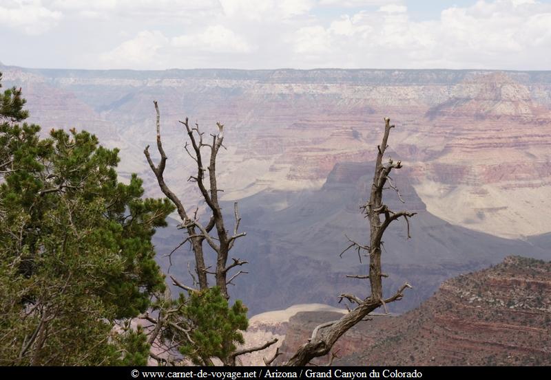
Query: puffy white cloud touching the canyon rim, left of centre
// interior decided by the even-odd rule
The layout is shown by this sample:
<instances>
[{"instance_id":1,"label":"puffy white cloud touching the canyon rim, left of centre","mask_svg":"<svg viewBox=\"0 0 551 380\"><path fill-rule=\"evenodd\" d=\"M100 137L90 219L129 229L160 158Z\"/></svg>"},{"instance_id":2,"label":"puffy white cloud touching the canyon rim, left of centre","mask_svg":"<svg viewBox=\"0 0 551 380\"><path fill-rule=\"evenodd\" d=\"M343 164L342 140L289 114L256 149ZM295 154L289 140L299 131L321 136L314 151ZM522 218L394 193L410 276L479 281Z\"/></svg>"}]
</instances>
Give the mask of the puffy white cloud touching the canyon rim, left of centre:
<instances>
[{"instance_id":1,"label":"puffy white cloud touching the canyon rim, left of centre","mask_svg":"<svg viewBox=\"0 0 551 380\"><path fill-rule=\"evenodd\" d=\"M163 33L143 30L135 38L101 54L100 60L104 67L110 68L165 68L166 58L160 51L168 44L169 40Z\"/></svg>"}]
</instances>

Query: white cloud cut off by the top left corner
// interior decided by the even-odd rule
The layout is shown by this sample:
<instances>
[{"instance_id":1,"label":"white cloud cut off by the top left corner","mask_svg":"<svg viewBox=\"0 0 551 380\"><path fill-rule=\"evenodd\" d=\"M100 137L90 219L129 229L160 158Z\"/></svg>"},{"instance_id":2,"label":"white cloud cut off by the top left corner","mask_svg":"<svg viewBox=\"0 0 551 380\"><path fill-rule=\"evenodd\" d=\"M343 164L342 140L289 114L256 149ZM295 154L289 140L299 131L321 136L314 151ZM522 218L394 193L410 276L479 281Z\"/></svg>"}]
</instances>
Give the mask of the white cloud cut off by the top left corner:
<instances>
[{"instance_id":1,"label":"white cloud cut off by the top left corner","mask_svg":"<svg viewBox=\"0 0 551 380\"><path fill-rule=\"evenodd\" d=\"M0 3L0 25L27 34L41 34L59 23L63 14L46 8L40 0L12 0Z\"/></svg>"}]
</instances>

